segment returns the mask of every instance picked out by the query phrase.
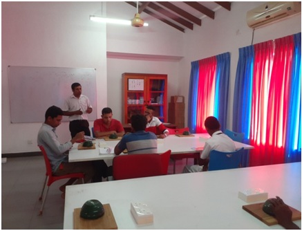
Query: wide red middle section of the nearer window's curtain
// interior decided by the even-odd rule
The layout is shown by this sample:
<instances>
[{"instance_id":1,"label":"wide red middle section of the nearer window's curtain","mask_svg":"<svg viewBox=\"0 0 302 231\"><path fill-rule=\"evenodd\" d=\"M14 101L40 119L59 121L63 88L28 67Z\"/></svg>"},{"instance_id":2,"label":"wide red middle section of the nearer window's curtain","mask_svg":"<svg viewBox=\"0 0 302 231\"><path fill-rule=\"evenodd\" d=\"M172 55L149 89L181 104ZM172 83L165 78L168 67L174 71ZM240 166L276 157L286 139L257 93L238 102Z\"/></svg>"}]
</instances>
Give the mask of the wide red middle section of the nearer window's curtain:
<instances>
[{"instance_id":1,"label":"wide red middle section of the nearer window's curtain","mask_svg":"<svg viewBox=\"0 0 302 231\"><path fill-rule=\"evenodd\" d=\"M284 163L293 51L292 36L254 46L250 166Z\"/></svg>"}]
</instances>

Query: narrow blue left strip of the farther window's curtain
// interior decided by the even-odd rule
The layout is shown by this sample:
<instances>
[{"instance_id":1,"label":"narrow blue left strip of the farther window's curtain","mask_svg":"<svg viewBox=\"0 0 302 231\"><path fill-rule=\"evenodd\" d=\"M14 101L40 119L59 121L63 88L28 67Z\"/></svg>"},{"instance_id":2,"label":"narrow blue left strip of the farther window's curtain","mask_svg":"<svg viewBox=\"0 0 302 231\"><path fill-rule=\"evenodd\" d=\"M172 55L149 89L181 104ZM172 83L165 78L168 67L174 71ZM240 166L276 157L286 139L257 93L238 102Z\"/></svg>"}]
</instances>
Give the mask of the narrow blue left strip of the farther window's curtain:
<instances>
[{"instance_id":1,"label":"narrow blue left strip of the farther window's curtain","mask_svg":"<svg viewBox=\"0 0 302 231\"><path fill-rule=\"evenodd\" d=\"M188 99L188 127L191 133L196 133L197 91L199 77L199 62L191 62L191 75Z\"/></svg>"}]
</instances>

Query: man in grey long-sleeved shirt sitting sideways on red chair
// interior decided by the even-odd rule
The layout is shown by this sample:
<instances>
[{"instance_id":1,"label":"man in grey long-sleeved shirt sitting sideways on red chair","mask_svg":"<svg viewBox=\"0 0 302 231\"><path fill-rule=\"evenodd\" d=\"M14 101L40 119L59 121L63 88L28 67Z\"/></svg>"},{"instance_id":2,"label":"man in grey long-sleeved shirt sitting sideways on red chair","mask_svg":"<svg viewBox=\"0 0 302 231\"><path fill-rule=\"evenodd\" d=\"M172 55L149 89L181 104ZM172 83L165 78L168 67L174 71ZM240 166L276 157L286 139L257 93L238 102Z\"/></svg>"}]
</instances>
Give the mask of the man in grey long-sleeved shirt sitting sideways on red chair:
<instances>
[{"instance_id":1,"label":"man in grey long-sleeved shirt sitting sideways on red chair","mask_svg":"<svg viewBox=\"0 0 302 231\"><path fill-rule=\"evenodd\" d=\"M84 139L84 131L76 133L70 141L61 144L57 140L55 129L61 124L62 116L63 111L59 107L52 106L46 110L45 122L39 129L37 143L44 147L54 175L62 176L83 172L85 174L84 182L87 183L95 174L92 163L90 161L68 163L68 150L73 147L76 140ZM66 184L60 187L63 192L62 197L64 197L66 185L72 185L76 180L77 178L70 178Z\"/></svg>"}]
</instances>

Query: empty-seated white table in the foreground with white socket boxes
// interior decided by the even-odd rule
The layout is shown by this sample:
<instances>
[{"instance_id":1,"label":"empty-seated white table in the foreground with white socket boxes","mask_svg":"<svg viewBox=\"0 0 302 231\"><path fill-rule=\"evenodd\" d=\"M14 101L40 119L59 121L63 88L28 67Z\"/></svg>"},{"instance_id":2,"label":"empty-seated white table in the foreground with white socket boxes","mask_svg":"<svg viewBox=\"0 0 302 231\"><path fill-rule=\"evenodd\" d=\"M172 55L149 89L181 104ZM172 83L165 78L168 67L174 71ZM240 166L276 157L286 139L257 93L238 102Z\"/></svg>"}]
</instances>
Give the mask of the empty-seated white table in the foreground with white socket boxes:
<instances>
[{"instance_id":1,"label":"empty-seated white table in the foreground with white socket boxes","mask_svg":"<svg viewBox=\"0 0 302 231\"><path fill-rule=\"evenodd\" d=\"M283 229L242 209L248 203L238 191L259 187L301 211L301 163L290 163L68 186L64 229L73 229L73 210L90 199L111 205L119 229ZM154 222L137 225L131 202L147 203Z\"/></svg>"}]
</instances>

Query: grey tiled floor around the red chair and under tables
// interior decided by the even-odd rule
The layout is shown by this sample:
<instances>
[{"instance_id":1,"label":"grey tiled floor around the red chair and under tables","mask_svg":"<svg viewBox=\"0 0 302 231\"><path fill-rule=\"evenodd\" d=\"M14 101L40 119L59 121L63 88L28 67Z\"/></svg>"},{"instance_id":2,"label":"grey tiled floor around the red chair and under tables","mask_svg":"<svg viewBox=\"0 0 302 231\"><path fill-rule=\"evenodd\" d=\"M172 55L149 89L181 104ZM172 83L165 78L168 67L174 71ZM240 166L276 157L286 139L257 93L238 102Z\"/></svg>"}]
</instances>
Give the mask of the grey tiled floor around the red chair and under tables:
<instances>
[{"instance_id":1,"label":"grey tiled floor around the red chair and under tables","mask_svg":"<svg viewBox=\"0 0 302 231\"><path fill-rule=\"evenodd\" d=\"M189 160L192 164L193 160ZM176 161L176 174L182 172L186 160ZM173 173L170 160L168 173ZM38 216L41 201L38 200L45 179L42 156L8 158L1 166L2 212L1 229L4 230L62 230L64 200L57 181L50 186L44 205L44 214Z\"/></svg>"}]
</instances>

